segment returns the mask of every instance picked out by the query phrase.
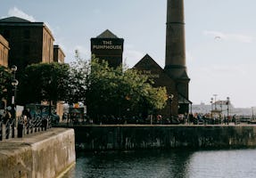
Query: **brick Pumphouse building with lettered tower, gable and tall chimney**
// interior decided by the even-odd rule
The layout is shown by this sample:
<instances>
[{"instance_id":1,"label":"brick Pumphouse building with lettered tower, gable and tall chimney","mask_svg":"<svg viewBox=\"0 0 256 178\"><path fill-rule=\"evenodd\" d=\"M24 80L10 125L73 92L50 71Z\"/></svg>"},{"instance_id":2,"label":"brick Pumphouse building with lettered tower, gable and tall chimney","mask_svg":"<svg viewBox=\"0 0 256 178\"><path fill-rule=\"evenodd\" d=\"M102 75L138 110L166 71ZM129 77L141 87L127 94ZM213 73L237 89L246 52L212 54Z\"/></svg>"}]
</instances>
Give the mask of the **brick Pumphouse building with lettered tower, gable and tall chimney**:
<instances>
[{"instance_id":1,"label":"brick Pumphouse building with lettered tower, gable and tall chimney","mask_svg":"<svg viewBox=\"0 0 256 178\"><path fill-rule=\"evenodd\" d=\"M111 67L117 67L122 63L123 41L107 29L91 38L91 52L96 58L108 61ZM185 41L184 0L168 0L164 69L149 54L133 67L153 79L154 86L167 88L169 101L160 111L163 117L186 115L192 104L188 94L190 78L186 71Z\"/></svg>"}]
</instances>

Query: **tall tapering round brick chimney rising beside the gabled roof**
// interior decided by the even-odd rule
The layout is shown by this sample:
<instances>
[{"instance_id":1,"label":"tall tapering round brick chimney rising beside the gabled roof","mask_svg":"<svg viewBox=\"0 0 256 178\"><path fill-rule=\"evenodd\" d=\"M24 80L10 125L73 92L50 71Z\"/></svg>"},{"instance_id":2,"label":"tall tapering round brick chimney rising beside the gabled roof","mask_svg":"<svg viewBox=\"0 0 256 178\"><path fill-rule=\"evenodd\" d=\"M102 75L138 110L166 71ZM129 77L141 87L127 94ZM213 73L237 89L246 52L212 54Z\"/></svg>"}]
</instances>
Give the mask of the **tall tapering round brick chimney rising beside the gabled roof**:
<instances>
[{"instance_id":1,"label":"tall tapering round brick chimney rising beside the gabled roof","mask_svg":"<svg viewBox=\"0 0 256 178\"><path fill-rule=\"evenodd\" d=\"M184 0L168 0L165 69L174 79L186 75Z\"/></svg>"}]
</instances>

